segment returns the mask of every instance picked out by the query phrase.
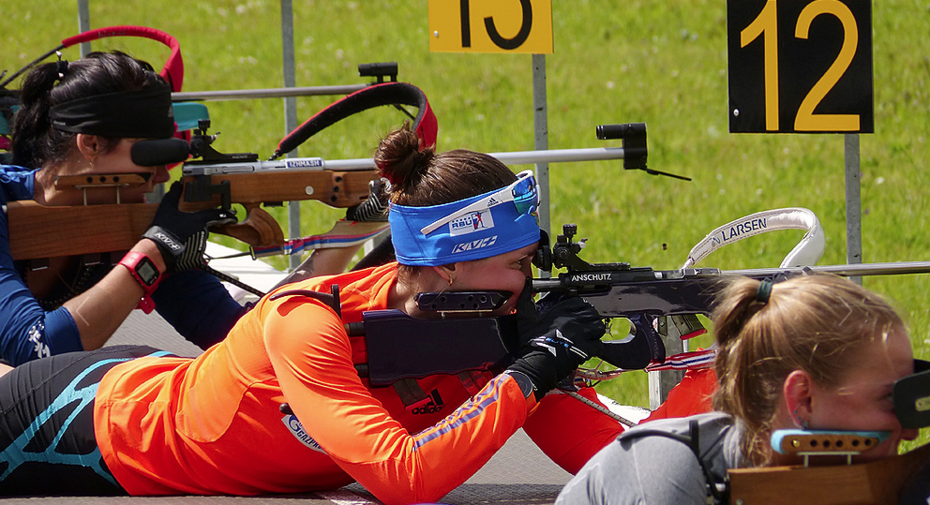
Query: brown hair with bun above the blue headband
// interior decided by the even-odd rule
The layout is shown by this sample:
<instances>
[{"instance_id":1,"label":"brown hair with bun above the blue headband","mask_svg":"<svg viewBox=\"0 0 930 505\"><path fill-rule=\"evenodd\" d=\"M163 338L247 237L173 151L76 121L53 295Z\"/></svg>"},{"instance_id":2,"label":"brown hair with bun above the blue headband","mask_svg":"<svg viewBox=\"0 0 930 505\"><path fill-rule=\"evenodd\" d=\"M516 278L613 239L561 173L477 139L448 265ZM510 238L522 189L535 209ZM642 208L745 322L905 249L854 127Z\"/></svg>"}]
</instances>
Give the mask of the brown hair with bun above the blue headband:
<instances>
[{"instance_id":1,"label":"brown hair with bun above the blue headband","mask_svg":"<svg viewBox=\"0 0 930 505\"><path fill-rule=\"evenodd\" d=\"M381 176L391 182L391 201L409 207L455 202L503 188L517 180L507 165L484 153L420 150L410 124L389 133L374 154ZM401 265L409 276L414 267Z\"/></svg>"}]
</instances>

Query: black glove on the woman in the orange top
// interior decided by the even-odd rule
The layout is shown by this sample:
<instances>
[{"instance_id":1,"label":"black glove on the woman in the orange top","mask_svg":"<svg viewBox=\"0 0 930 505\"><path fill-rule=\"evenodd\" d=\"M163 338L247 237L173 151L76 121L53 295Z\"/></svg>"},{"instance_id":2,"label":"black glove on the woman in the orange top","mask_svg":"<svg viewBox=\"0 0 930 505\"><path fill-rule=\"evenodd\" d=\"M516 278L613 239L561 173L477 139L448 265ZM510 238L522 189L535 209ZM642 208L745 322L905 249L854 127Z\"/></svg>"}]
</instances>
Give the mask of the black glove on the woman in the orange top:
<instances>
[{"instance_id":1,"label":"black glove on the woman in the orange top","mask_svg":"<svg viewBox=\"0 0 930 505\"><path fill-rule=\"evenodd\" d=\"M540 313L527 283L516 309L523 355L508 370L529 377L537 401L603 349L600 338L607 326L594 307L577 296L550 303Z\"/></svg>"}]
</instances>

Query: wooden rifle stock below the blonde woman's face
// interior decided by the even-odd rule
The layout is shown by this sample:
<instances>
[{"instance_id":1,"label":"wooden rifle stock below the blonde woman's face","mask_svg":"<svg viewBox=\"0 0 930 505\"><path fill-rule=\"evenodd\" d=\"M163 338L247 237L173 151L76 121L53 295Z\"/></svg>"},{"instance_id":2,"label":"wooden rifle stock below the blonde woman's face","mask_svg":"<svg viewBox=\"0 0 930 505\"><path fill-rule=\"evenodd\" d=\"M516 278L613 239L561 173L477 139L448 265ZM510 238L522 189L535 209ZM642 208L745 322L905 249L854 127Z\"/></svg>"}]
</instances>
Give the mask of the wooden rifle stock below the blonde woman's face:
<instances>
[{"instance_id":1,"label":"wooden rifle stock below the blonde woman's face","mask_svg":"<svg viewBox=\"0 0 930 505\"><path fill-rule=\"evenodd\" d=\"M888 459L841 466L730 470L730 503L849 505L897 503L908 479L930 461L930 445Z\"/></svg>"}]
</instances>

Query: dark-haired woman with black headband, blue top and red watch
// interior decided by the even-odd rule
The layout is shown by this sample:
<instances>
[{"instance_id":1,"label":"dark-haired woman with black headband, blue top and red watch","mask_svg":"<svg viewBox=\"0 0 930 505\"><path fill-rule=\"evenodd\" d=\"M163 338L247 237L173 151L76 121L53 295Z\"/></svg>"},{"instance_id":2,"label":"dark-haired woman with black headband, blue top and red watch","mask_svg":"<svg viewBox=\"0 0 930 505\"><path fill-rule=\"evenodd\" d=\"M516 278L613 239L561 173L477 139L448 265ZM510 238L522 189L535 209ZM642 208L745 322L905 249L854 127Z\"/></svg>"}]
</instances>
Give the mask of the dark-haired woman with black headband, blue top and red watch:
<instances>
[{"instance_id":1,"label":"dark-haired woman with black headband, blue top and red watch","mask_svg":"<svg viewBox=\"0 0 930 505\"><path fill-rule=\"evenodd\" d=\"M147 63L126 54L91 53L71 63L40 65L23 81L20 98L13 165L0 166L0 203L142 202L144 193L168 180L165 163L182 161L137 160L139 146L171 138L175 123L170 87ZM145 183L83 191L56 184L61 176L127 173ZM0 358L19 364L96 349L137 306L151 311L154 305L195 344L222 339L244 309L212 276L178 273L189 266L178 253L187 245L188 254L195 253L204 244L207 223L230 216L218 210L179 212L179 192L176 187L166 195L147 238L109 261L104 255L95 262L73 257L14 262L6 217L0 218Z\"/></svg>"}]
</instances>

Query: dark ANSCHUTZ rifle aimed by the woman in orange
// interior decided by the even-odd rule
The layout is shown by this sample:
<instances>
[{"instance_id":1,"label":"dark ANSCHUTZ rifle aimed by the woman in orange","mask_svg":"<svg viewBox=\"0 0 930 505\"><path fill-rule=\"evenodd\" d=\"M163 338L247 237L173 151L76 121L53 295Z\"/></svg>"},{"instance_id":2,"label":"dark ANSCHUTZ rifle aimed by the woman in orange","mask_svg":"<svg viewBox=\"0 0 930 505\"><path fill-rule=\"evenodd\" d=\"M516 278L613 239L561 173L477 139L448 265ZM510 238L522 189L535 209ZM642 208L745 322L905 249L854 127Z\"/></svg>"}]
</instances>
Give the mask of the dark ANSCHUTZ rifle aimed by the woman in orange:
<instances>
[{"instance_id":1,"label":"dark ANSCHUTZ rifle aimed by the woman in orange","mask_svg":"<svg viewBox=\"0 0 930 505\"><path fill-rule=\"evenodd\" d=\"M553 267L565 269L555 278L534 278L532 289L556 296L581 296L604 318L626 318L631 323L630 335L622 340L605 342L604 355L599 358L621 370L657 369L671 362L666 356L663 336L688 339L704 333L698 315L710 314L715 295L727 278L747 276L756 279L790 277L809 272L831 273L845 277L866 275L901 275L930 273L930 261L863 263L830 266L784 266L753 270L720 270L717 268L682 268L654 270L632 267L629 263L588 263L578 253L582 243L575 241L575 225L565 225L563 233L551 247L540 242L534 264L540 270ZM365 314L362 325L350 328L350 334L365 335L369 346L377 353L368 354L369 363L360 373L372 384L391 384L397 380L420 378L436 370L489 370L512 360L516 337L514 325L498 317L497 327L489 325L485 314L499 308L512 293L497 291L420 293L416 302L420 310L453 318L442 321L414 320L403 314ZM460 336L445 338L448 330L431 324L456 324L467 328ZM378 328L390 323L389 329ZM385 326L385 328L388 328ZM508 330L510 328L510 330ZM444 331L447 333L439 333ZM481 333L487 332L487 333ZM427 359L411 353L428 345L435 335L443 335L444 348L432 349ZM404 345L397 345L403 335ZM454 340L459 339L460 342ZM471 348L466 353L462 349ZM466 361L463 363L463 359ZM930 375L923 380L930 383ZM923 389L923 386L921 387ZM930 389L930 385L926 387ZM926 422L930 424L930 416Z\"/></svg>"}]
</instances>

